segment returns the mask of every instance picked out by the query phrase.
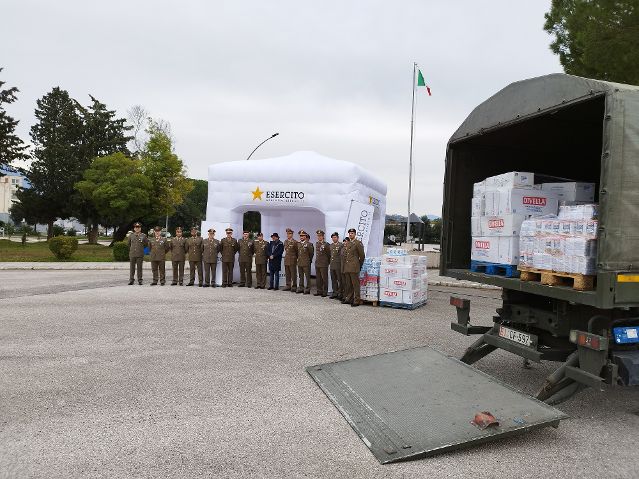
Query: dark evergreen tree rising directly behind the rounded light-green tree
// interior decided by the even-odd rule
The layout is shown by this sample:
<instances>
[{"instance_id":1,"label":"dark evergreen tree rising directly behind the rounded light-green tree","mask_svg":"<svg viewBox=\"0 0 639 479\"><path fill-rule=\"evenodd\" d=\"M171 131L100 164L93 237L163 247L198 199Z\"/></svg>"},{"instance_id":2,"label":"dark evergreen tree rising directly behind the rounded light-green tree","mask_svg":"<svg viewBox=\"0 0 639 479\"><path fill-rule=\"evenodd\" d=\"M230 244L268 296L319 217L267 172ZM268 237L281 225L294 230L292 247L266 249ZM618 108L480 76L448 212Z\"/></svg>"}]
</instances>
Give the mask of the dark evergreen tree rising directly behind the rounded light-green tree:
<instances>
[{"instance_id":1,"label":"dark evergreen tree rising directly behind the rounded light-green tree","mask_svg":"<svg viewBox=\"0 0 639 479\"><path fill-rule=\"evenodd\" d=\"M129 155L127 143L133 138L126 134L133 127L127 126L124 118L116 118L114 110L109 110L104 103L93 96L89 95L89 97L92 103L88 108L76 102L83 121L80 150L81 161L84 163L82 165L83 171L91 165L96 157L118 152ZM79 176L75 178L75 181L79 181L81 178L82 176ZM97 244L100 214L93 202L82 194L74 195L72 213L88 227L89 243Z\"/></svg>"}]
</instances>

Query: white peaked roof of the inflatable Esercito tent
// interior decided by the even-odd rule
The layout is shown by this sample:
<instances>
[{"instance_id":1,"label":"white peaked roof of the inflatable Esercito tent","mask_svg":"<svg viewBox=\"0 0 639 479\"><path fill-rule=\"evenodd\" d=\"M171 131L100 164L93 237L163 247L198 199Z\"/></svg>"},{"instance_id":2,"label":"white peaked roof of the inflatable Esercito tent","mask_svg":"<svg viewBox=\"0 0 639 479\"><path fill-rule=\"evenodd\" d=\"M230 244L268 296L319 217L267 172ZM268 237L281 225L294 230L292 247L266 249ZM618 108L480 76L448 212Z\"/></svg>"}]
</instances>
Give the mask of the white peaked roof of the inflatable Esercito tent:
<instances>
[{"instance_id":1,"label":"white peaked roof of the inflatable Esercito tent","mask_svg":"<svg viewBox=\"0 0 639 479\"><path fill-rule=\"evenodd\" d=\"M258 183L359 183L381 195L386 184L355 163L314 151L297 151L263 160L227 161L209 166L209 181Z\"/></svg>"}]
</instances>

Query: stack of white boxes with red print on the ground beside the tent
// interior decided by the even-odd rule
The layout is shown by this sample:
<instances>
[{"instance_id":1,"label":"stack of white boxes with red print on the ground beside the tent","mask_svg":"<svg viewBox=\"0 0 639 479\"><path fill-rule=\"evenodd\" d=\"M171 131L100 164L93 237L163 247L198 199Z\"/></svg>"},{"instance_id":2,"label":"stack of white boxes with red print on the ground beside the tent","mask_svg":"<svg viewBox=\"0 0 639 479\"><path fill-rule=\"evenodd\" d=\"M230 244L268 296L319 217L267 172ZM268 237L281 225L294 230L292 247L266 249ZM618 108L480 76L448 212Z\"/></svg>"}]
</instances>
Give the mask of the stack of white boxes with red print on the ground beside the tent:
<instances>
[{"instance_id":1,"label":"stack of white boxes with red print on the ground beside the tent","mask_svg":"<svg viewBox=\"0 0 639 479\"><path fill-rule=\"evenodd\" d=\"M383 306L415 309L428 299L426 256L409 255L402 248L389 248L382 256L379 299Z\"/></svg>"}]
</instances>

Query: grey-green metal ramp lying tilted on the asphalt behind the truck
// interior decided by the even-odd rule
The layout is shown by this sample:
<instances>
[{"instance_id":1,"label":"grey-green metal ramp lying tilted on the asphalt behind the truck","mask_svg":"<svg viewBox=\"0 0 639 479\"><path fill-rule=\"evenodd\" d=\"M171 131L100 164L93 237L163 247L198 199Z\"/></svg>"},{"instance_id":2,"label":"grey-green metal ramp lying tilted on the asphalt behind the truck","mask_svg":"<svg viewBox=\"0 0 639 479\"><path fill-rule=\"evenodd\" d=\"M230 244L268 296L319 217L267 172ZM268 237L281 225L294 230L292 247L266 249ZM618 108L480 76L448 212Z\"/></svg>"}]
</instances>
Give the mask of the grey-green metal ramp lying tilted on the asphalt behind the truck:
<instances>
[{"instance_id":1,"label":"grey-green metal ramp lying tilted on the asphalt behind the truck","mask_svg":"<svg viewBox=\"0 0 639 479\"><path fill-rule=\"evenodd\" d=\"M428 347L306 371L382 464L557 427L568 417ZM473 424L484 411L499 424Z\"/></svg>"}]
</instances>

